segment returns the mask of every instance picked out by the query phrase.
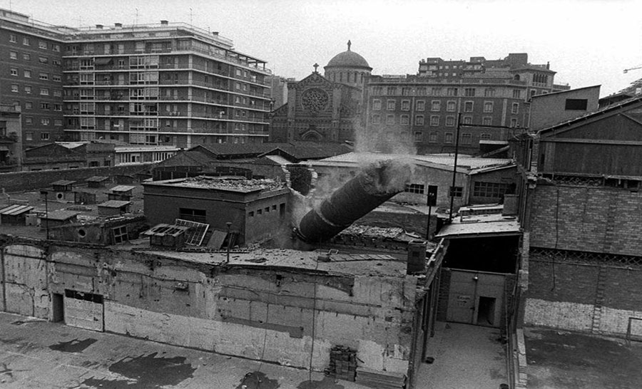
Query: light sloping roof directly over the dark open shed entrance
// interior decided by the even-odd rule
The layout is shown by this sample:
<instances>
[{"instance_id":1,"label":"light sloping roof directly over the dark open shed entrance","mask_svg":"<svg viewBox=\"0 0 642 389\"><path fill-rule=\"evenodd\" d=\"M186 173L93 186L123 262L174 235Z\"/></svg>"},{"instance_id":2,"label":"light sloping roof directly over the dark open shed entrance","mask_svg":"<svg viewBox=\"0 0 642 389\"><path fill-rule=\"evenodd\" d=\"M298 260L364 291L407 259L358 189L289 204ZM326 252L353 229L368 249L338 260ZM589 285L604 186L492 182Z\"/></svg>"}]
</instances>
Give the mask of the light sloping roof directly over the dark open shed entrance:
<instances>
[{"instance_id":1,"label":"light sloping roof directly over the dark open shed entrance","mask_svg":"<svg viewBox=\"0 0 642 389\"><path fill-rule=\"evenodd\" d=\"M437 238L498 237L521 234L519 220L501 214L475 214L453 219L439 231Z\"/></svg>"}]
</instances>

